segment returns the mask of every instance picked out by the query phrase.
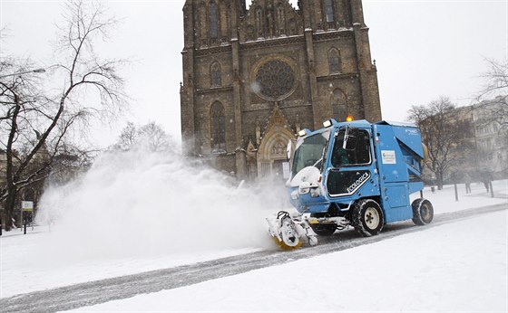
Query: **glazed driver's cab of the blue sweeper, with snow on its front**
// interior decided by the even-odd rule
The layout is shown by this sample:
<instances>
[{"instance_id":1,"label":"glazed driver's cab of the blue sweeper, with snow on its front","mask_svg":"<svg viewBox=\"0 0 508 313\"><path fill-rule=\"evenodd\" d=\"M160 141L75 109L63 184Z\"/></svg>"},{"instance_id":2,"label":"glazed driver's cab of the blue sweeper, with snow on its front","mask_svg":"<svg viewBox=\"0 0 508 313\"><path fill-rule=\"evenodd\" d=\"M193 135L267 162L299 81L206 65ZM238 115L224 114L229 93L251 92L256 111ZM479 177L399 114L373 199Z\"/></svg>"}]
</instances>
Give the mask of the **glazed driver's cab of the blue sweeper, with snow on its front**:
<instances>
[{"instance_id":1,"label":"glazed driver's cab of the blue sweeper, with snow on its front","mask_svg":"<svg viewBox=\"0 0 508 313\"><path fill-rule=\"evenodd\" d=\"M302 133L290 158L287 186L300 213L347 209L354 194L376 195L374 150L365 120L337 123ZM356 196L357 198L357 196Z\"/></svg>"}]
</instances>

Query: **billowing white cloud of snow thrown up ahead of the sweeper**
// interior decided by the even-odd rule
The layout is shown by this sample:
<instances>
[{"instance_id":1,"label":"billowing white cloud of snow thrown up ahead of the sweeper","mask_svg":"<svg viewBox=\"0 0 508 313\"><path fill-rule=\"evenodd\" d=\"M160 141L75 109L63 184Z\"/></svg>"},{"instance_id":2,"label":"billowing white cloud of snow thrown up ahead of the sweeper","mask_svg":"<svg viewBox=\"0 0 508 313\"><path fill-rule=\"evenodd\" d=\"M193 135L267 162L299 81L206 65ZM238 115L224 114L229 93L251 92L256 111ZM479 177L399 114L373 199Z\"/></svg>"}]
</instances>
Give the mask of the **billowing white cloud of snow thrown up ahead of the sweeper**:
<instances>
[{"instance_id":1,"label":"billowing white cloud of snow thrown up ahead of the sweeper","mask_svg":"<svg viewBox=\"0 0 508 313\"><path fill-rule=\"evenodd\" d=\"M181 156L106 153L79 180L44 193L37 218L54 224L44 254L54 249L81 259L268 247L264 217L287 206L283 185L237 189L232 181Z\"/></svg>"}]
</instances>

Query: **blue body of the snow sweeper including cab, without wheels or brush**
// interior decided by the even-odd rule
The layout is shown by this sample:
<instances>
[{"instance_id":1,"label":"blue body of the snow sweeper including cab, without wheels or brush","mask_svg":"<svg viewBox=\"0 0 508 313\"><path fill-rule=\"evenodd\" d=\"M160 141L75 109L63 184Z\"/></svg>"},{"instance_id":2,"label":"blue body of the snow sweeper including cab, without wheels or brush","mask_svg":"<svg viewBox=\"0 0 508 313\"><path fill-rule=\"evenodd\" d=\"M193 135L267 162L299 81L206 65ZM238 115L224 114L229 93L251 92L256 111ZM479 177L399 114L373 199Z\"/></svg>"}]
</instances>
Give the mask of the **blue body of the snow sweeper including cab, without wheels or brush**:
<instances>
[{"instance_id":1,"label":"blue body of the snow sweeper including cab, without wheels or brush","mask_svg":"<svg viewBox=\"0 0 508 313\"><path fill-rule=\"evenodd\" d=\"M347 216L357 200L370 198L381 206L385 223L413 218L409 195L424 188L419 128L330 119L327 128L306 131L291 156L286 184L299 213ZM351 134L356 147L347 148L344 138Z\"/></svg>"}]
</instances>

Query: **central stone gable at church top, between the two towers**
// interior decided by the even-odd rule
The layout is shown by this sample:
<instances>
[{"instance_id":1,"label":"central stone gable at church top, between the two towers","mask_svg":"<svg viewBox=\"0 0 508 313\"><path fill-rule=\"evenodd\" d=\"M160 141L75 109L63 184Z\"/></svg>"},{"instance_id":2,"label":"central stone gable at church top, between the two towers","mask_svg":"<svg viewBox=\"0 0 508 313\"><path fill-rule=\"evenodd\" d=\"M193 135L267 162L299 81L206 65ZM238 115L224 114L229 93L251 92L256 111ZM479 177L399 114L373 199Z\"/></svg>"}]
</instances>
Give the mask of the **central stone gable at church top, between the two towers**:
<instances>
[{"instance_id":1,"label":"central stone gable at church top, between the two towers","mask_svg":"<svg viewBox=\"0 0 508 313\"><path fill-rule=\"evenodd\" d=\"M301 18L288 0L254 0L240 24L240 41L301 34Z\"/></svg>"}]
</instances>

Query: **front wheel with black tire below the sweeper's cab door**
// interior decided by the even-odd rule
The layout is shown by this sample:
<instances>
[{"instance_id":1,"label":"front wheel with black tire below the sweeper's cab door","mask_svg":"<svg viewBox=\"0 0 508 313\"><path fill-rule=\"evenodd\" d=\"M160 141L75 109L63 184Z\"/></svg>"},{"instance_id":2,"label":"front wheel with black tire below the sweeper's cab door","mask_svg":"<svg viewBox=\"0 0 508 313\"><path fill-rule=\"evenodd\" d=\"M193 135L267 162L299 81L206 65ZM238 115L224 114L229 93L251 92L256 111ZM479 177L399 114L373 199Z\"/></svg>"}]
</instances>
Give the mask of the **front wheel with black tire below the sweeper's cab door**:
<instances>
[{"instance_id":1,"label":"front wheel with black tire below the sweeper's cab door","mask_svg":"<svg viewBox=\"0 0 508 313\"><path fill-rule=\"evenodd\" d=\"M376 201L362 199L353 206L351 224L360 235L364 237L374 236L383 229L385 217Z\"/></svg>"}]
</instances>

